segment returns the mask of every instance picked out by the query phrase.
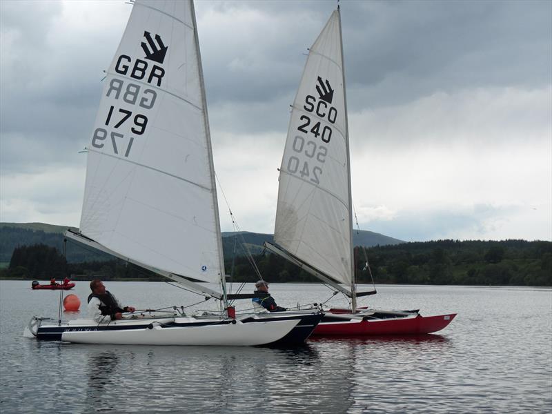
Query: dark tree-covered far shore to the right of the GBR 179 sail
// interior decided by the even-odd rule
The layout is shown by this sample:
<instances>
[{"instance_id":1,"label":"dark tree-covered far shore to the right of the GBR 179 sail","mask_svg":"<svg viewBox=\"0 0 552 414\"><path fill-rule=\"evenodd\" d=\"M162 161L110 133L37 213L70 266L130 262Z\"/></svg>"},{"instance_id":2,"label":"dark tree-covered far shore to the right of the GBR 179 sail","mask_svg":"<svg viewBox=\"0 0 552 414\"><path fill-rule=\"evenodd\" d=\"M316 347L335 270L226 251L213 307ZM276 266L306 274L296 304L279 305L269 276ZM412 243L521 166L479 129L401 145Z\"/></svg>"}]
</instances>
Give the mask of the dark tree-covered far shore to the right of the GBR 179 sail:
<instances>
[{"instance_id":1,"label":"dark tree-covered far shore to the right of the GBR 179 sail","mask_svg":"<svg viewBox=\"0 0 552 414\"><path fill-rule=\"evenodd\" d=\"M362 284L552 286L551 242L438 240L355 248L355 257L355 277ZM270 282L317 281L275 255L255 261ZM252 280L245 257L236 258L233 268L236 282Z\"/></svg>"}]
</instances>

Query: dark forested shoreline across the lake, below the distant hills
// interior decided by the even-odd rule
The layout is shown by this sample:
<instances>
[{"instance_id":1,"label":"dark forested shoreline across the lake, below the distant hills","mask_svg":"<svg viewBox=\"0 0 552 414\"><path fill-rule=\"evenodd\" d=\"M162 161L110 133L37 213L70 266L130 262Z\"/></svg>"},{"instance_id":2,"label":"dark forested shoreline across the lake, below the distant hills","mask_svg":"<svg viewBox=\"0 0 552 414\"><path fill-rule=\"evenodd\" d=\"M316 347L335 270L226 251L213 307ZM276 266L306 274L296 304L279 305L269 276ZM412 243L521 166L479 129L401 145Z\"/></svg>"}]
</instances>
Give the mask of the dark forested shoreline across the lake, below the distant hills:
<instances>
[{"instance_id":1,"label":"dark forested shoreline across the lake, below the distant hills","mask_svg":"<svg viewBox=\"0 0 552 414\"><path fill-rule=\"evenodd\" d=\"M356 248L355 255L358 283L371 283L373 277L375 284L552 286L552 242L438 240ZM276 255L265 253L253 259L269 282L318 282ZM225 262L229 281L259 278L247 257ZM49 280L65 275L75 280L166 280L119 259L68 263L57 248L45 244L15 248L8 268L0 270L3 279Z\"/></svg>"}]
</instances>

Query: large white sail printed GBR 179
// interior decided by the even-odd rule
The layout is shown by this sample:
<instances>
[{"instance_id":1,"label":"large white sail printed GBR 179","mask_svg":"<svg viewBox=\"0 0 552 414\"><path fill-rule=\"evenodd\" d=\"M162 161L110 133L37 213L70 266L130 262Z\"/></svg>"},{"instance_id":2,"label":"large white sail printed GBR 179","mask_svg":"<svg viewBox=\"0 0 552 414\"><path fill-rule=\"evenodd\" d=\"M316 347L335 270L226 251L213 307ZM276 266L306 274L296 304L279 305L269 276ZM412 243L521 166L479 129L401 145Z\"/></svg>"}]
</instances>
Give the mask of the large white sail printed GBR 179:
<instances>
[{"instance_id":1,"label":"large white sail printed GBR 179","mask_svg":"<svg viewBox=\"0 0 552 414\"><path fill-rule=\"evenodd\" d=\"M192 1L135 1L88 146L80 230L150 268L221 282L195 27Z\"/></svg>"}]
</instances>

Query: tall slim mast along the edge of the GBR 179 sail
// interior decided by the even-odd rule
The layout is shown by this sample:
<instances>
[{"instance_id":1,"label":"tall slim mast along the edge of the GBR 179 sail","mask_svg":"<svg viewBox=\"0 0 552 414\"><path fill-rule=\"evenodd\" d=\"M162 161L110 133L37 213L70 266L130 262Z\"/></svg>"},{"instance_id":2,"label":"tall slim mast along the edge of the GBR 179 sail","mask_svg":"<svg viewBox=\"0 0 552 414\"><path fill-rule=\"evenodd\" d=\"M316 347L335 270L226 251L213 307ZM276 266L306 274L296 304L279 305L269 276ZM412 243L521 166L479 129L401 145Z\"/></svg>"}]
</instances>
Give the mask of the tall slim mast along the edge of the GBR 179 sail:
<instances>
[{"instance_id":1,"label":"tall slim mast along the edge of the GBR 179 sail","mask_svg":"<svg viewBox=\"0 0 552 414\"><path fill-rule=\"evenodd\" d=\"M209 157L209 169L210 169L210 179L211 179L211 188L213 194L213 209L215 213L215 226L217 229L217 246L219 250L219 267L221 271L220 275L220 284L222 288L222 301L224 302L224 308L228 307L228 298L226 297L226 272L224 270L224 256L222 253L222 239L221 239L221 230L220 230L220 219L219 219L219 202L217 199L217 183L215 181L215 165L213 163L213 148L211 146L211 134L209 130L209 116L207 112L207 99L205 95L205 83L203 78L203 64L201 63L201 52L199 50L199 36L197 34L197 21L195 19L195 7L193 0L190 1L190 7L192 9L192 19L194 23L194 39L195 39L195 48L197 50L197 60L199 64L199 82L201 85L201 103L203 103L204 109L204 124L205 124L205 134L207 137L207 152Z\"/></svg>"}]
</instances>

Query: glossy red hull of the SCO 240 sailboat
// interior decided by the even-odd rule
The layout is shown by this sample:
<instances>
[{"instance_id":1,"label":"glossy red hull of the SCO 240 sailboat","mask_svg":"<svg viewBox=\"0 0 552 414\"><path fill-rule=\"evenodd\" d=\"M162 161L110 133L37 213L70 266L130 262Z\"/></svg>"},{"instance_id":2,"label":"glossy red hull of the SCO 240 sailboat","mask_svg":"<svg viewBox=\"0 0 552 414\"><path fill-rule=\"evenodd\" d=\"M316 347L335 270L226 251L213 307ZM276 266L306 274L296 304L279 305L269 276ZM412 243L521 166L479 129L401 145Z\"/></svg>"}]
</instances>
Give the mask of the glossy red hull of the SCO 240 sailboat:
<instances>
[{"instance_id":1,"label":"glossy red hull of the SCO 240 sailboat","mask_svg":"<svg viewBox=\"0 0 552 414\"><path fill-rule=\"evenodd\" d=\"M432 333L445 328L456 316L449 315L359 320L343 322L320 322L313 335L416 335Z\"/></svg>"}]
</instances>

